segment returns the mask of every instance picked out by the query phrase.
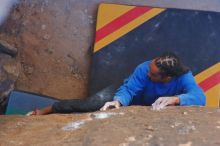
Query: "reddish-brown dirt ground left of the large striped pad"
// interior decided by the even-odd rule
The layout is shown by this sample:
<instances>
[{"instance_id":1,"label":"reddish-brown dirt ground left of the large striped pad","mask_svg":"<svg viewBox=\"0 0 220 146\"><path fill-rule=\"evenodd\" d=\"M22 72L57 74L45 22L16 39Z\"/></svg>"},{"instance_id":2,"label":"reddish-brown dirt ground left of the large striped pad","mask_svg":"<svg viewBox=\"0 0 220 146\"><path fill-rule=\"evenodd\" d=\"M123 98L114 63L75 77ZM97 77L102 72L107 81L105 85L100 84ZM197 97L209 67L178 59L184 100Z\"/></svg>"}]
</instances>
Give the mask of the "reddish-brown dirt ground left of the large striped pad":
<instances>
[{"instance_id":1,"label":"reddish-brown dirt ground left of the large striped pad","mask_svg":"<svg viewBox=\"0 0 220 146\"><path fill-rule=\"evenodd\" d=\"M16 89L61 99L87 96L88 49L92 43L88 31L92 29L82 9L87 4L77 3L20 0L12 9L0 27L0 39L19 51L21 74Z\"/></svg>"}]
</instances>

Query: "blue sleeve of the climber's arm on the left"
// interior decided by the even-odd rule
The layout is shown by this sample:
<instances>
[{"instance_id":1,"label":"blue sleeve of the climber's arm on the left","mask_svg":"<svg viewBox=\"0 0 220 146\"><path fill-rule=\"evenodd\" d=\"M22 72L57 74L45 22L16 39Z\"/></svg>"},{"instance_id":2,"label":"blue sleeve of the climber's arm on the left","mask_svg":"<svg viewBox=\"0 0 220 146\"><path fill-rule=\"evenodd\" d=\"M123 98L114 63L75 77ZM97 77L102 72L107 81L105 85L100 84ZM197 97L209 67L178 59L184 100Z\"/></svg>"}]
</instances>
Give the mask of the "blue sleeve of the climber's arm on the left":
<instances>
[{"instance_id":1,"label":"blue sleeve of the climber's arm on the left","mask_svg":"<svg viewBox=\"0 0 220 146\"><path fill-rule=\"evenodd\" d=\"M117 90L114 100L118 100L123 106L128 106L133 97L139 95L144 90L146 76L146 69L144 69L143 65L139 65Z\"/></svg>"}]
</instances>

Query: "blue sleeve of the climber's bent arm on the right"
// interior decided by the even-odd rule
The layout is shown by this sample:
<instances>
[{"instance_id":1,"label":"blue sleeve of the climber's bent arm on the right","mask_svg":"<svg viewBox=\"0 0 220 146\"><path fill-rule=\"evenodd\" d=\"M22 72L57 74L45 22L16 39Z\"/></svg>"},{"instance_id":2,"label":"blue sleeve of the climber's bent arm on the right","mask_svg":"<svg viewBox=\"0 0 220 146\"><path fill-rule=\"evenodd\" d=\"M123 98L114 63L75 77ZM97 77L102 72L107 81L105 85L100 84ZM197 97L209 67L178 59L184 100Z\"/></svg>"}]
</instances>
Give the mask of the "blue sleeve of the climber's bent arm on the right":
<instances>
[{"instance_id":1,"label":"blue sleeve of the climber's bent arm on the right","mask_svg":"<svg viewBox=\"0 0 220 146\"><path fill-rule=\"evenodd\" d=\"M206 104L206 97L203 90L196 84L191 72L180 77L180 84L183 94L178 95L180 105L201 105Z\"/></svg>"}]
</instances>

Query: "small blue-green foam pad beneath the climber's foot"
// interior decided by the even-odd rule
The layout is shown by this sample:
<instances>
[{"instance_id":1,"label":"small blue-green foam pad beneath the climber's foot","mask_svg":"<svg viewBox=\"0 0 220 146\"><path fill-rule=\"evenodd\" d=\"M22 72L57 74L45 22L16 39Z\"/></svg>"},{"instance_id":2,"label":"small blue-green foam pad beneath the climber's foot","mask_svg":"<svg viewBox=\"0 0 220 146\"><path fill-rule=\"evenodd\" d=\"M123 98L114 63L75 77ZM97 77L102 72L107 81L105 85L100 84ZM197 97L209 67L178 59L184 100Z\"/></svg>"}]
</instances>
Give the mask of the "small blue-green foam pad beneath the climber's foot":
<instances>
[{"instance_id":1,"label":"small blue-green foam pad beneath the climber's foot","mask_svg":"<svg viewBox=\"0 0 220 146\"><path fill-rule=\"evenodd\" d=\"M6 115L25 115L27 112L34 109L40 109L52 105L58 100L49 97L41 96L34 93L22 91L12 91L8 99Z\"/></svg>"}]
</instances>

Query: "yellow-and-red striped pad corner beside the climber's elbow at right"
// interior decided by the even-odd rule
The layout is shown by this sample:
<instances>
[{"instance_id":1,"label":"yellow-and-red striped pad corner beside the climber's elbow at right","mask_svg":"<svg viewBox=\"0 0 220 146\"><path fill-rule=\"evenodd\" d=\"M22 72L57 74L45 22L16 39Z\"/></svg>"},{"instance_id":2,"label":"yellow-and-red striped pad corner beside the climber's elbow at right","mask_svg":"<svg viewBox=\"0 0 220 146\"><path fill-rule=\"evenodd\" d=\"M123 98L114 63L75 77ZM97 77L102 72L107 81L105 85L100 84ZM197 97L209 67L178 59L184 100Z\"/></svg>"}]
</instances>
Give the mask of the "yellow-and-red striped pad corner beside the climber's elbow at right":
<instances>
[{"instance_id":1,"label":"yellow-and-red striped pad corner beside the climber's elbow at right","mask_svg":"<svg viewBox=\"0 0 220 146\"><path fill-rule=\"evenodd\" d=\"M196 82L207 97L206 106L219 107L220 103L220 63L195 76Z\"/></svg>"}]
</instances>

